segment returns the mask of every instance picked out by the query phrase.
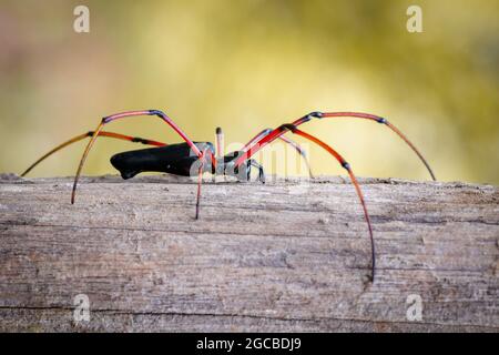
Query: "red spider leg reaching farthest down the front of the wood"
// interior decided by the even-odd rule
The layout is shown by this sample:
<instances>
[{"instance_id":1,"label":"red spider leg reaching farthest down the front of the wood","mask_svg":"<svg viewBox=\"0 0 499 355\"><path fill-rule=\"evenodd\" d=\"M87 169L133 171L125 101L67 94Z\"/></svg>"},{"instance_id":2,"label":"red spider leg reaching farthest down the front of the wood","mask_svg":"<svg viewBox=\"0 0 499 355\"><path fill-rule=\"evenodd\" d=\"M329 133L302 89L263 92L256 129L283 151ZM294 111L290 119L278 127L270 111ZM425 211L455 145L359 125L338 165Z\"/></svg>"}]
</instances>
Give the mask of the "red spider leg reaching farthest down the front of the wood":
<instances>
[{"instance_id":1,"label":"red spider leg reaching farthest down the front of the wood","mask_svg":"<svg viewBox=\"0 0 499 355\"><path fill-rule=\"evenodd\" d=\"M374 236L373 236L373 227L370 225L370 219L369 219L369 213L367 212L367 206L366 206L366 202L364 200L364 194L360 190L360 186L358 184L357 179L355 178L355 174L350 168L350 164L347 163L347 161L338 153L336 152L333 148L330 148L328 144L324 143L323 141L320 141L319 139L298 130L295 125L293 124L287 124L284 126L285 130L289 130L292 131L294 134L298 134L318 145L320 145L323 149L325 149L327 152L329 152L340 164L348 172L348 175L350 176L352 183L355 186L355 190L357 192L357 195L360 200L360 204L363 206L364 210L364 216L366 219L367 222L367 226L369 229L369 237L370 237L370 251L371 251L371 281L374 282L374 277L375 277L375 268L376 268L376 254L375 254L375 243L374 243Z\"/></svg>"}]
</instances>

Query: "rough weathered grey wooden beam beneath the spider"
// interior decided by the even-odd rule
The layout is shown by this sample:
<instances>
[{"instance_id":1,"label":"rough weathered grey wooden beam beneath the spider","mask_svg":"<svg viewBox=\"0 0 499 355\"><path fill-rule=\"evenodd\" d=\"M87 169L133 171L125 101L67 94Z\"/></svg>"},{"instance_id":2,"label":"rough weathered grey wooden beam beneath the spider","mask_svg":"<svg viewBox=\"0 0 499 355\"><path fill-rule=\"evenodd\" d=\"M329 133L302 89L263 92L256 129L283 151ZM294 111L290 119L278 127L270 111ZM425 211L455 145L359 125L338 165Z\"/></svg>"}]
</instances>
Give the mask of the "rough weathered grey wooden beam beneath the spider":
<instances>
[{"instance_id":1,"label":"rough weathered grey wooden beam beneath the spider","mask_svg":"<svg viewBox=\"0 0 499 355\"><path fill-rule=\"evenodd\" d=\"M499 187L0 178L0 331L499 331ZM90 298L90 322L73 297ZM407 296L422 321L406 317Z\"/></svg>"}]
</instances>

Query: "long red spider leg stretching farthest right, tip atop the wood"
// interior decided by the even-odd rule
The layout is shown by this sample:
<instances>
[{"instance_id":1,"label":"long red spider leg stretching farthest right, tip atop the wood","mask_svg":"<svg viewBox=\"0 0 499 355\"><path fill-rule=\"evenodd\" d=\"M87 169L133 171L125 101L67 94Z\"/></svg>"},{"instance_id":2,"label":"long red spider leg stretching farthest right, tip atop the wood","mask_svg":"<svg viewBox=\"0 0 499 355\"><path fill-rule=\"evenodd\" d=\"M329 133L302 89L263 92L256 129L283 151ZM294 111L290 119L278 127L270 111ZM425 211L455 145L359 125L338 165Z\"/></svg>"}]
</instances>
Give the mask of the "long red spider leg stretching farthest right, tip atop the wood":
<instances>
[{"instance_id":1,"label":"long red spider leg stretching farthest right, tip atop the wood","mask_svg":"<svg viewBox=\"0 0 499 355\"><path fill-rule=\"evenodd\" d=\"M422 156L422 154L419 152L419 150L416 148L416 145L413 144L413 142L409 141L409 139L394 124L388 122L385 118L381 118L379 115L369 114L369 113L361 113L361 112L310 112L307 115L304 115L303 118L294 121L292 124L294 126L298 126L301 124L304 124L312 119L325 119L325 118L356 118L356 119L364 119L369 120L374 122L378 122L381 124L387 125L391 131L394 131L400 139L403 139L410 149L418 155L420 161L425 164L426 169L428 170L429 174L431 175L431 179L436 181L434 171L431 170L430 165L426 161L426 159ZM253 154L255 154L258 150L264 148L266 144L271 143L275 139L279 138L285 133L286 130L283 131L283 126L278 126L275 130L268 132L264 136L259 136L257 140L253 142L253 144L245 146L244 153L241 154L236 161L236 166L240 166L245 160L249 159Z\"/></svg>"}]
</instances>

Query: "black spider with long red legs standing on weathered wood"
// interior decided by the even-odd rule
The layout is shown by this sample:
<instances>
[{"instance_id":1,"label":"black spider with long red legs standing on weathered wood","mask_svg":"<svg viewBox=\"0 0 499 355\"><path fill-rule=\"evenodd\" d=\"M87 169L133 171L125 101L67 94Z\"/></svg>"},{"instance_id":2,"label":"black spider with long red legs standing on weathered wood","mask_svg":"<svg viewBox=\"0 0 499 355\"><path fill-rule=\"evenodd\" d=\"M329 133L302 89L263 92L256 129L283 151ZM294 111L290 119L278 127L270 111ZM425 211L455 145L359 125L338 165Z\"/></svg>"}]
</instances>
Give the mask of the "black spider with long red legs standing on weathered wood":
<instances>
[{"instance_id":1,"label":"black spider with long red legs standing on weathered wood","mask_svg":"<svg viewBox=\"0 0 499 355\"><path fill-rule=\"evenodd\" d=\"M141 115L154 115L159 116L165 123L167 123L184 141L183 143L177 144L166 144L149 139L142 139L138 136L130 136L114 132L103 131L104 125L125 118L141 116ZM77 194L77 185L80 179L80 174L82 172L83 165L85 163L86 156L91 148L93 146L95 140L99 136L113 138L119 140L125 140L134 143L142 143L145 145L152 145L154 148L142 149L138 151L128 151L123 153L115 154L111 158L111 164L121 173L123 179L131 179L141 172L164 172L174 175L181 176L195 176L197 175L197 195L196 195L196 212L195 219L197 220L200 216L200 201L201 201L201 184L202 184L202 175L205 172L212 173L214 175L225 175L225 176L234 176L238 181L248 181L251 176L252 168L256 168L258 170L258 180L262 183L265 183L265 173L262 168L252 156L258 152L261 149L265 148L267 144L274 142L279 139L285 143L291 144L298 154L303 156L305 160L308 170L308 161L306 159L305 151L293 140L284 136L285 133L293 133L299 135L306 140L312 141L315 144L318 144L320 148L326 150L333 158L335 158L338 163L347 171L352 183L355 186L356 193L360 201L360 205L364 211L364 217L367 223L367 229L369 233L370 241L370 251L371 251L371 263L370 263L370 281L374 282L375 278L375 270L376 270L376 253L375 253L375 243L373 236L373 227L370 223L369 213L367 212L366 202L364 200L364 194L360 190L360 186L357 182L357 179L352 170L352 166L332 146L320 141L319 139L302 131L298 129L299 125L307 123L313 119L328 119L328 118L349 118L349 119L363 119L374 121L380 124L388 126L391 131L394 131L398 136L400 136L410 149L419 156L421 162L427 168L431 179L435 181L435 174L429 166L426 159L418 151L418 149L408 140L408 138L400 132L394 124L388 122L385 118L369 114L369 113L360 113L360 112L310 112L292 123L286 123L277 126L276 129L266 129L256 134L249 142L247 142L240 151L231 152L228 154L223 155L222 142L223 142L223 133L220 128L216 129L216 150L213 143L211 142L194 142L192 141L181 129L176 125L172 119L170 119L163 111L160 110L140 110L140 111L126 111L120 112L112 115L104 116L96 129L94 131L90 131L83 133L81 135L77 135L73 139L55 146L50 152L41 156L31 166L29 166L21 176L28 174L34 166L37 166L40 162L42 162L48 156L52 155L57 151L81 141L85 138L91 138L89 141L83 155L80 160L80 164L78 166L78 171L74 178L73 189L71 193L71 203L74 203L75 194ZM312 176L312 171L309 170L309 174Z\"/></svg>"}]
</instances>

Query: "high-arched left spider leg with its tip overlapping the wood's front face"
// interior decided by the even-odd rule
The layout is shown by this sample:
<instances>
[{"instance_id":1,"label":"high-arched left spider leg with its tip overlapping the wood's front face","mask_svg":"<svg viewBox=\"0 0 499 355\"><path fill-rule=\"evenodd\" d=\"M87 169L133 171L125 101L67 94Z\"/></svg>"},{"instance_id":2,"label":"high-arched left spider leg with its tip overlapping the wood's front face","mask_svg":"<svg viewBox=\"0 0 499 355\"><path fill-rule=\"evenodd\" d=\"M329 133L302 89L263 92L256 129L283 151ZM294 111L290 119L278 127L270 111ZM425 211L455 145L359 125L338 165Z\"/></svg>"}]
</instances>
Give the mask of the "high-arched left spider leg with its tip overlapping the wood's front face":
<instances>
[{"instance_id":1,"label":"high-arched left spider leg with its tip overlapping the wood's front face","mask_svg":"<svg viewBox=\"0 0 499 355\"><path fill-rule=\"evenodd\" d=\"M115 113L109 116L105 116L102 119L102 121L96 126L92 139L90 140L89 144L86 145L83 155L80 160L80 165L78 166L77 175L74 176L74 184L73 184L73 191L71 193L71 203L74 203L74 197L77 195L77 186L78 181L80 180L81 171L83 170L83 165L86 161L86 156L89 155L90 150L93 146L93 143L95 143L95 140L99 135L99 133L102 131L103 126L112 121L130 118L130 116L138 116L138 115L157 115L163 121L165 121L176 133L179 133L180 136L191 146L191 150L201 159L203 155L202 152L197 149L197 146L194 144L193 141L191 141L187 135L162 111L159 110L142 110L142 111L126 111L126 112L120 112Z\"/></svg>"}]
</instances>

